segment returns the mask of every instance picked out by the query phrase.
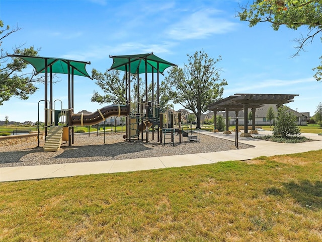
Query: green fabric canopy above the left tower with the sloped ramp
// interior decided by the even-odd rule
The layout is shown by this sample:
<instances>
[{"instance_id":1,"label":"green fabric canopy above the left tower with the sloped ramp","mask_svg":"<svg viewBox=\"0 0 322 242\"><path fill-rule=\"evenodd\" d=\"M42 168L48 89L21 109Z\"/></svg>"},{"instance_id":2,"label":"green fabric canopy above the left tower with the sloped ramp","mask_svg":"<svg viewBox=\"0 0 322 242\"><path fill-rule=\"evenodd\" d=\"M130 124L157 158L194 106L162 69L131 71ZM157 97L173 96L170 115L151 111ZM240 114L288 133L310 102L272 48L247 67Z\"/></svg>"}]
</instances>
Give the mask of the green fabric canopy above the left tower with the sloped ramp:
<instances>
[{"instance_id":1,"label":"green fabric canopy above the left tower with the sloped ramp","mask_svg":"<svg viewBox=\"0 0 322 242\"><path fill-rule=\"evenodd\" d=\"M70 73L73 70L73 74L83 77L92 77L86 71L86 64L91 64L90 62L78 62L72 61L70 59L63 58L52 58L52 57L40 57L40 56L27 56L27 55L18 55L10 54L11 57L19 57L24 59L24 61L30 63L36 70L36 75L39 73L45 73L47 68L47 73L50 73L50 66L52 67L52 73L62 73L68 74L68 63L70 65ZM47 65L46 65L47 61Z\"/></svg>"}]
</instances>

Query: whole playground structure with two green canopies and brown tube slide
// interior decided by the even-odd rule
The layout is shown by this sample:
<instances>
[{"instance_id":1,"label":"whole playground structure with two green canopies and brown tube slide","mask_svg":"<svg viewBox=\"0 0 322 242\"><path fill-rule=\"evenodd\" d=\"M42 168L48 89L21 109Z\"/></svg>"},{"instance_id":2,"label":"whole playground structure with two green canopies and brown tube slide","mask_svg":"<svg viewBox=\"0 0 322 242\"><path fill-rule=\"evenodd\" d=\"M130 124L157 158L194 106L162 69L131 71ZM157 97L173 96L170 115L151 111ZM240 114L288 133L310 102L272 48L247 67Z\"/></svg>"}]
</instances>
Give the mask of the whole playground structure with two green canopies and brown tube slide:
<instances>
[{"instance_id":1,"label":"whole playground structure with two green canopies and brown tube slide","mask_svg":"<svg viewBox=\"0 0 322 242\"><path fill-rule=\"evenodd\" d=\"M181 113L177 113L171 109L171 106L161 108L159 106L159 74L163 74L164 70L171 66L176 66L165 61L153 53L136 54L136 55L118 55L110 56L113 58L113 65L109 70L125 71L126 75L126 104L108 105L93 113L73 113L74 109L74 93L73 83L74 75L88 77L91 76L86 71L86 65L90 62L78 62L63 58L51 58L40 56L23 56L8 55L11 57L19 57L30 63L36 70L36 75L44 73L45 83L45 145L44 151L57 151L61 142L68 142L68 146L74 143L74 126L91 126L99 124L109 116L126 116L126 131L124 139L128 142L139 139L143 141L145 133L145 141L149 140L149 132L152 129L152 140L154 140L154 132L157 132L157 142L165 144L166 139L171 139L174 144L174 134L180 135L180 143L182 142L182 134L188 137L188 141L198 140L192 136L186 135L187 132L182 131ZM53 73L67 74L67 92L68 92L68 108L62 108L60 100L53 101ZM145 100L139 100L139 74L145 74ZM151 73L152 93L148 95L147 73ZM49 74L49 85L48 85ZM130 74L137 75L137 96L131 100L131 78ZM154 94L155 83L154 74L156 74L156 97ZM49 100L48 100L49 86ZM133 86L133 85L132 85ZM133 87L134 88L134 87ZM149 98L151 97L151 98ZM41 102L39 101L39 103ZM60 101L61 107L56 108L55 102ZM39 114L38 103L38 114ZM62 123L59 126L59 119L62 117ZM38 115L39 125L39 115ZM39 129L38 129L39 130ZM39 132L38 132L39 135ZM189 138L190 137L190 138ZM194 136L196 137L196 136ZM200 140L200 133L199 133ZM39 138L38 138L39 145Z\"/></svg>"}]
</instances>

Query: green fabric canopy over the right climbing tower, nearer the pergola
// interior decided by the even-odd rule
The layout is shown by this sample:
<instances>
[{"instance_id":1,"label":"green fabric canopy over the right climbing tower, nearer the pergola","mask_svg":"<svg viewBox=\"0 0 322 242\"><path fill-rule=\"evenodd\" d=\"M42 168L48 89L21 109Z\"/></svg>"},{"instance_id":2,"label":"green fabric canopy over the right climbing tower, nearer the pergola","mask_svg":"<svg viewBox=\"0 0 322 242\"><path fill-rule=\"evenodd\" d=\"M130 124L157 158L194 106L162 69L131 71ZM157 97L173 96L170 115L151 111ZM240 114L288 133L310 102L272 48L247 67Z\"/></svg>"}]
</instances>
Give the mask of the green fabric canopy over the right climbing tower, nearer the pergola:
<instances>
[{"instance_id":1,"label":"green fabric canopy over the right climbing tower, nearer the pergola","mask_svg":"<svg viewBox=\"0 0 322 242\"><path fill-rule=\"evenodd\" d=\"M161 73L171 66L177 66L162 58L157 57L152 53L147 54L131 54L131 55L110 55L113 58L112 67L109 70L130 71L132 74L140 73ZM145 70L145 62L146 69ZM129 70L129 64L131 70ZM157 68L158 66L158 68Z\"/></svg>"}]
</instances>

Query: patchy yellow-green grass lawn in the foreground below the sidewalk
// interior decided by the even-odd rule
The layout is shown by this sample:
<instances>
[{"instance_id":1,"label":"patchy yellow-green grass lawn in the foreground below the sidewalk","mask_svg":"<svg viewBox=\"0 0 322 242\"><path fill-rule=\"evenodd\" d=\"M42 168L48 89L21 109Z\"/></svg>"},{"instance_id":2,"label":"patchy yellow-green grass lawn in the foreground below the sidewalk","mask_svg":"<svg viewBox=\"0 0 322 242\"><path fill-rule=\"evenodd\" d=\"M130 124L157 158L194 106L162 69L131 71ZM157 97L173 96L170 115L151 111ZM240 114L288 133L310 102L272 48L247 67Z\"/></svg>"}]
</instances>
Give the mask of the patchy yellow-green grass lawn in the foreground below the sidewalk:
<instances>
[{"instance_id":1,"label":"patchy yellow-green grass lawn in the foreground below the sidewalk","mask_svg":"<svg viewBox=\"0 0 322 242\"><path fill-rule=\"evenodd\" d=\"M0 186L1 241L322 241L322 150Z\"/></svg>"}]
</instances>

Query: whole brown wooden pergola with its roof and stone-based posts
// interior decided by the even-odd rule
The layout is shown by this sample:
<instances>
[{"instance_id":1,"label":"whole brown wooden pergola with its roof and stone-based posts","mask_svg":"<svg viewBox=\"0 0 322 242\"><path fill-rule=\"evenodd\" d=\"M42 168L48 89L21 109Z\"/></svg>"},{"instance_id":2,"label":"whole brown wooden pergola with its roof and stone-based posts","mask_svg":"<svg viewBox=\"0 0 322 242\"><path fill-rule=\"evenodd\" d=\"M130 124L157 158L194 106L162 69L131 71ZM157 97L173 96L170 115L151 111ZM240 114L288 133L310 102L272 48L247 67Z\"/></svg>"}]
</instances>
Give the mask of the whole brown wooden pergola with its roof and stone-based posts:
<instances>
[{"instance_id":1,"label":"whole brown wooden pergola with its roof and stone-based posts","mask_svg":"<svg viewBox=\"0 0 322 242\"><path fill-rule=\"evenodd\" d=\"M236 117L238 116L238 111L244 109L244 133L242 133L241 137L251 137L248 133L248 124L246 120L248 120L248 108L252 109L253 112L253 125L252 130L255 131L255 111L256 108L263 106L264 104L276 104L279 107L282 104L292 102L294 97L298 96L298 94L235 94L224 99L221 99L217 102L214 102L209 106L209 110L214 111L214 123L216 127L216 113L217 111L225 111L226 112L226 130L224 134L230 134L229 128L229 119L228 112L235 111ZM238 124L237 124L238 125Z\"/></svg>"}]
</instances>

